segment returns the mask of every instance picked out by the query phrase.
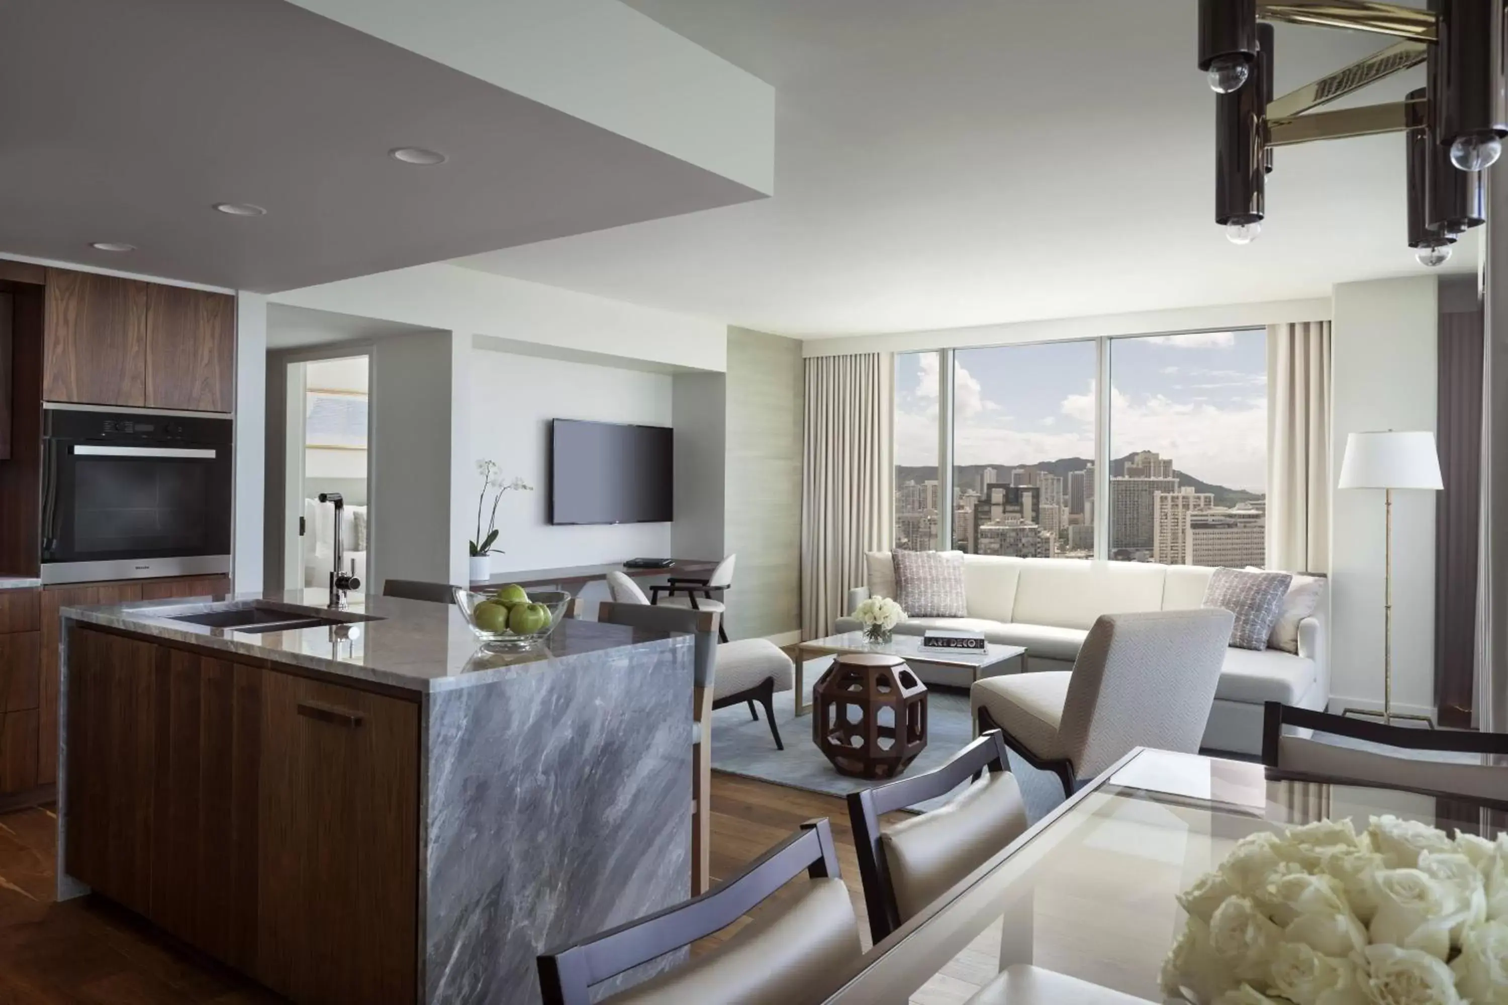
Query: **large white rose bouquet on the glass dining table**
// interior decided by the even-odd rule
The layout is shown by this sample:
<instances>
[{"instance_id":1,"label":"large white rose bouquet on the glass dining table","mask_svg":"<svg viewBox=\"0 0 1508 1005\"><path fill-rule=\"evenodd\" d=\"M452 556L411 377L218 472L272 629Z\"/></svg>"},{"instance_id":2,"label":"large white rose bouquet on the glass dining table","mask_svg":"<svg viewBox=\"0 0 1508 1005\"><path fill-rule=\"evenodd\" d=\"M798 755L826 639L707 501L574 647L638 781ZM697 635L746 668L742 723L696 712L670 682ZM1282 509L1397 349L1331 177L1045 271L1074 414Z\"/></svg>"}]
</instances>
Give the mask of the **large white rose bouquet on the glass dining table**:
<instances>
[{"instance_id":1,"label":"large white rose bouquet on the glass dining table","mask_svg":"<svg viewBox=\"0 0 1508 1005\"><path fill-rule=\"evenodd\" d=\"M1179 895L1197 1005L1508 1005L1508 833L1372 817L1255 833Z\"/></svg>"}]
</instances>

